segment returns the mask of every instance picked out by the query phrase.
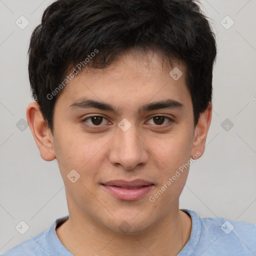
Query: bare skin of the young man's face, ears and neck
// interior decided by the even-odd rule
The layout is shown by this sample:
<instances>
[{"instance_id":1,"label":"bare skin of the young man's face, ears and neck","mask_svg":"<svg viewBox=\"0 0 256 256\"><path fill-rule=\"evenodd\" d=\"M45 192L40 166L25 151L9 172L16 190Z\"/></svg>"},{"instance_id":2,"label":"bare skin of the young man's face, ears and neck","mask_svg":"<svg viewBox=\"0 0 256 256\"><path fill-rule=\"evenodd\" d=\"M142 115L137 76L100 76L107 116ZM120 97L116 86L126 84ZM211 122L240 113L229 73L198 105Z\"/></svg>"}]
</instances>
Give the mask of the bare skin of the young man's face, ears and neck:
<instances>
[{"instance_id":1,"label":"bare skin of the young man's face, ears and neck","mask_svg":"<svg viewBox=\"0 0 256 256\"><path fill-rule=\"evenodd\" d=\"M194 128L185 66L175 62L183 75L174 80L169 75L174 66L163 67L158 54L150 52L150 61L138 56L142 55L129 51L106 68L78 73L56 100L53 135L37 103L27 106L27 121L40 155L46 161L57 159L65 184L69 220L56 233L77 256L176 255L190 236L191 219L178 208L188 168L154 202L148 198L196 152L203 154L212 107L209 104L201 113ZM118 111L69 108L84 96ZM138 112L141 105L169 98L183 108ZM101 126L92 126L91 119L82 122L89 115L105 118ZM152 118L159 115L172 121L166 118L159 124ZM131 124L126 131L118 127L123 118ZM170 125L159 128L166 123ZM80 174L74 183L67 178L72 169ZM154 186L133 201L116 199L100 185L136 178L150 180ZM129 226L126 233L119 229L123 221Z\"/></svg>"}]
</instances>

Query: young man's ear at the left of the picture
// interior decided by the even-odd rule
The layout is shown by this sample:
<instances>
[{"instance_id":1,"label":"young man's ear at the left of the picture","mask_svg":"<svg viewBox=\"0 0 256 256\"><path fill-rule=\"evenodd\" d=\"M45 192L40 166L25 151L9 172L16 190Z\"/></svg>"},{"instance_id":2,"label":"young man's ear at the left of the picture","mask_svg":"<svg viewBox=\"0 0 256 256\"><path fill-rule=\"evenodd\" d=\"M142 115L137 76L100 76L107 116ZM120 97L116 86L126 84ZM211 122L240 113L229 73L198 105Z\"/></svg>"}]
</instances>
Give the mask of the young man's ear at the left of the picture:
<instances>
[{"instance_id":1,"label":"young man's ear at the left of the picture","mask_svg":"<svg viewBox=\"0 0 256 256\"><path fill-rule=\"evenodd\" d=\"M56 155L53 149L52 134L44 122L38 103L31 102L28 104L26 108L26 119L41 157L45 161L55 159Z\"/></svg>"}]
</instances>

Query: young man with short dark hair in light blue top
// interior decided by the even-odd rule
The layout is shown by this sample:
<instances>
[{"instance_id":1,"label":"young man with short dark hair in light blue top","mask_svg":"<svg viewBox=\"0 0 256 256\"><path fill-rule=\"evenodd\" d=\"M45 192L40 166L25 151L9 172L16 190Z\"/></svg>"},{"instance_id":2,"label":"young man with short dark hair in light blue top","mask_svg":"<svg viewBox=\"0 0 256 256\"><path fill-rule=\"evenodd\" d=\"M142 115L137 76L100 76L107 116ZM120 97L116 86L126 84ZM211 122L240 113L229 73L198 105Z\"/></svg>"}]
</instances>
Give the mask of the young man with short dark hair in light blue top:
<instances>
[{"instance_id":1,"label":"young man with short dark hair in light blue top","mask_svg":"<svg viewBox=\"0 0 256 256\"><path fill-rule=\"evenodd\" d=\"M211 121L214 34L191 0L59 0L29 45L27 121L69 215L8 255L255 255L256 226L179 209Z\"/></svg>"}]
</instances>

